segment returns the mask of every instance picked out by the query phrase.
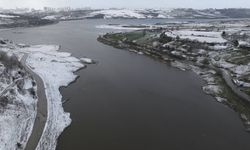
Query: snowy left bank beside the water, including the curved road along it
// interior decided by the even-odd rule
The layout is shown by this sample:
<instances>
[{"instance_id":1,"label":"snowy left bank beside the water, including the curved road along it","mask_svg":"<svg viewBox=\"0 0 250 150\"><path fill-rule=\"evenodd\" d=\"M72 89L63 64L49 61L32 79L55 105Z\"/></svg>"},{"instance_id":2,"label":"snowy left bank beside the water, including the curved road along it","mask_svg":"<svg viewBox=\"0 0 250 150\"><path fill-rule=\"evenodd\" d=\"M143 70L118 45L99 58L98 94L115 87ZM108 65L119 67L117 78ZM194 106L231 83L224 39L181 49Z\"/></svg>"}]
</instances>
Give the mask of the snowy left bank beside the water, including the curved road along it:
<instances>
[{"instance_id":1,"label":"snowy left bank beside the water, including the curved road along it","mask_svg":"<svg viewBox=\"0 0 250 150\"><path fill-rule=\"evenodd\" d=\"M10 42L8 47L10 47L10 52L18 56L24 67L27 66L25 68L31 71L33 78L41 79L39 81L36 79L37 85L44 85L44 87L38 87L37 89L39 96L37 108L40 107L41 109L37 109L32 132L27 143L24 144L24 146L27 144L24 149L56 149L59 136L72 121L70 113L64 111L60 88L76 82L79 75L75 73L84 69L85 65L81 63L80 59L73 57L71 53L60 51L61 46L58 45L28 45L22 47ZM11 49L11 47L14 48ZM43 94L41 95L41 93ZM45 104L45 102L47 103Z\"/></svg>"}]
</instances>

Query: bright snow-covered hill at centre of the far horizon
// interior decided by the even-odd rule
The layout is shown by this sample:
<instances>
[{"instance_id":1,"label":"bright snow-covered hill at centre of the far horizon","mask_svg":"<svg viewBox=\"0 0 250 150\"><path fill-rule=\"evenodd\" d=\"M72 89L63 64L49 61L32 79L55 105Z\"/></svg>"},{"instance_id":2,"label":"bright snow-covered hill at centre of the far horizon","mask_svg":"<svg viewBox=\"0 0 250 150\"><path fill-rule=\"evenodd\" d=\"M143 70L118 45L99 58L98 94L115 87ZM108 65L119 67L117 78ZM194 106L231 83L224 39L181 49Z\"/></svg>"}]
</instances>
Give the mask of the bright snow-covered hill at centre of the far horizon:
<instances>
[{"instance_id":1,"label":"bright snow-covered hill at centre of the far horizon","mask_svg":"<svg viewBox=\"0 0 250 150\"><path fill-rule=\"evenodd\" d=\"M215 9L105 9L91 12L87 18L226 18Z\"/></svg>"}]
</instances>

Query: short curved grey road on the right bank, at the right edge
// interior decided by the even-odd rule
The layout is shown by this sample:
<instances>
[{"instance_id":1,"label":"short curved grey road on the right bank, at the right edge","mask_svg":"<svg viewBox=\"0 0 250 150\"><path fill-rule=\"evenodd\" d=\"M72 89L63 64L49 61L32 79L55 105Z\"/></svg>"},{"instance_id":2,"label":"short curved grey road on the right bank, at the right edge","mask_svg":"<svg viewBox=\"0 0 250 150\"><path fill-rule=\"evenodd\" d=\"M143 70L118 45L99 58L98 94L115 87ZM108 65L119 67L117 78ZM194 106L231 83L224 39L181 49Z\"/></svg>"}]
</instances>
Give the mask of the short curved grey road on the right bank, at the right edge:
<instances>
[{"instance_id":1,"label":"short curved grey road on the right bank, at the right edge","mask_svg":"<svg viewBox=\"0 0 250 150\"><path fill-rule=\"evenodd\" d=\"M246 100L247 102L250 102L250 96L242 92L239 87L233 83L228 71L226 71L225 69L222 69L221 71L223 79L225 80L226 84L233 90L233 92L240 98Z\"/></svg>"}]
</instances>

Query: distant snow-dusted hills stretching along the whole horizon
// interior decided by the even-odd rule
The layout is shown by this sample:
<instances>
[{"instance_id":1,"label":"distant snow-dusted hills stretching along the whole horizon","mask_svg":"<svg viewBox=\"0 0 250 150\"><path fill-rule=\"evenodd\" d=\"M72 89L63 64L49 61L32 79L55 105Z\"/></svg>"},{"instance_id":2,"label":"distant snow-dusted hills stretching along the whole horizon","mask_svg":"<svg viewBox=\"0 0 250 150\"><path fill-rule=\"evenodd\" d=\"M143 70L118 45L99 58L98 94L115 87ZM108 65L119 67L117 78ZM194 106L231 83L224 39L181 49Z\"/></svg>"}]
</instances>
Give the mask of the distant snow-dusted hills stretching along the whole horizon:
<instances>
[{"instance_id":1,"label":"distant snow-dusted hills stretching along the whole horizon","mask_svg":"<svg viewBox=\"0 0 250 150\"><path fill-rule=\"evenodd\" d=\"M250 18L250 9L71 9L71 10L0 10L0 24L24 22L17 20L31 20L29 23L61 20L81 19L222 19L222 18Z\"/></svg>"}]
</instances>

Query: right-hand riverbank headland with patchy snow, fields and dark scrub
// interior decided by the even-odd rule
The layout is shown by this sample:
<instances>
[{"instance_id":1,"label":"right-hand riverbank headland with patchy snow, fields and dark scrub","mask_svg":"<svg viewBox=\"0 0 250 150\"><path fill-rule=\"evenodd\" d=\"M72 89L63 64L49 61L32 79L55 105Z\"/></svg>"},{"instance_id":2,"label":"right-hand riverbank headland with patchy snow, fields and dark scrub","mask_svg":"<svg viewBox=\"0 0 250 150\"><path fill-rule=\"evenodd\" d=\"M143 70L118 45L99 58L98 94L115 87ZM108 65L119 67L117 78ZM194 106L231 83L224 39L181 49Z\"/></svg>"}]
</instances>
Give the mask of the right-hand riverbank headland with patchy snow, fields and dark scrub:
<instances>
[{"instance_id":1,"label":"right-hand riverbank headland with patchy snow, fields and dark scrub","mask_svg":"<svg viewBox=\"0 0 250 150\"><path fill-rule=\"evenodd\" d=\"M246 116L242 120L249 130L248 24L249 21L166 23L155 30L112 31L100 35L98 41L145 54L183 71L194 71L205 81L205 93ZM226 76L222 69L228 71Z\"/></svg>"}]
</instances>

